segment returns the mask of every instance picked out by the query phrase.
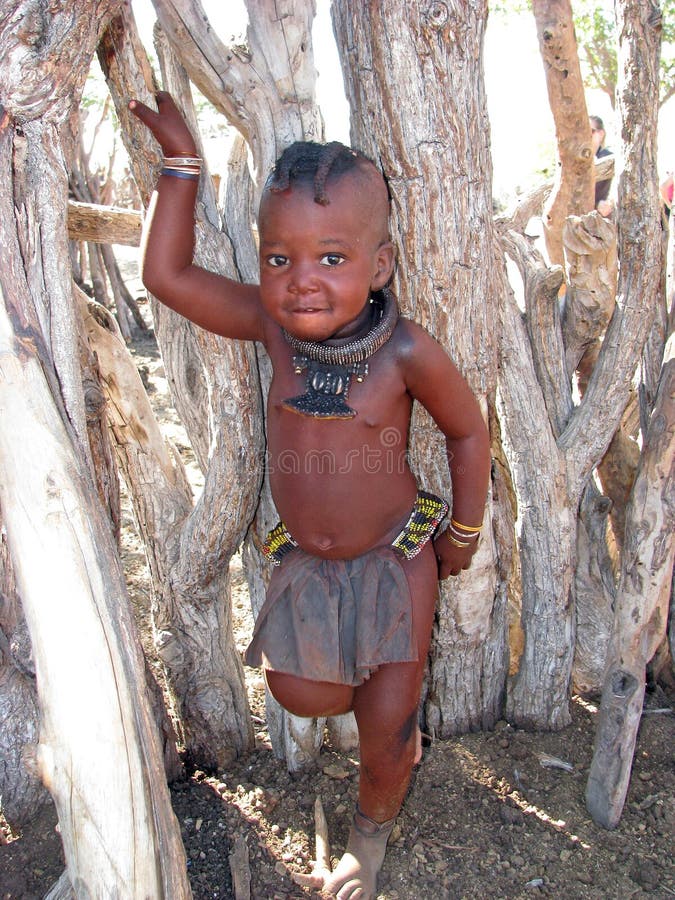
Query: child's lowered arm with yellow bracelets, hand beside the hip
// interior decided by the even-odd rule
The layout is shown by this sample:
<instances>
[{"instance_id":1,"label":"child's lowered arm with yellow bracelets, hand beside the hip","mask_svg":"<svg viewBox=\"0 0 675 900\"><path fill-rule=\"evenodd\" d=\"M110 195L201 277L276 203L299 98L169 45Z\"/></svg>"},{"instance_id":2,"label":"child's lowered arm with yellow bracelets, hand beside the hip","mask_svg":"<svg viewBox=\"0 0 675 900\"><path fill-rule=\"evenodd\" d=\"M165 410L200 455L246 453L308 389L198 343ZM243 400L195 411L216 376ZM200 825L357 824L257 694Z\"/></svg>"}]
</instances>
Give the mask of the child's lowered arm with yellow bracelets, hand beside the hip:
<instances>
[{"instance_id":1,"label":"child's lowered arm with yellow bracelets, hand beside the hip","mask_svg":"<svg viewBox=\"0 0 675 900\"><path fill-rule=\"evenodd\" d=\"M423 328L404 323L403 361L408 391L445 435L452 480L448 527L434 541L439 575L471 565L490 479L490 436L468 384L441 345Z\"/></svg>"}]
</instances>

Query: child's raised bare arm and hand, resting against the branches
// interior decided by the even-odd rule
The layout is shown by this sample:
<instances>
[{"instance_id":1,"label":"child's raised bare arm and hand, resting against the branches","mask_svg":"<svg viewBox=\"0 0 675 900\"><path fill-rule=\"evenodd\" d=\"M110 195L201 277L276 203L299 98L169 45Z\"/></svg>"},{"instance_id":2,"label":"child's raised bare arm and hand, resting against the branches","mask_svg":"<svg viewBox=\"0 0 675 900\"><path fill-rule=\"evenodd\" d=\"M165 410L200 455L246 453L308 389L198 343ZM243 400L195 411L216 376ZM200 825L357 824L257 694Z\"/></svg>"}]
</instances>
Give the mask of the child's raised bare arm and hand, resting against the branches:
<instances>
[{"instance_id":1,"label":"child's raised bare arm and hand, resting against the branches","mask_svg":"<svg viewBox=\"0 0 675 900\"><path fill-rule=\"evenodd\" d=\"M156 94L157 112L137 100L129 109L157 139L164 157L194 157L195 142L171 96ZM225 337L262 340L257 285L241 284L193 265L196 178L163 174L153 194L142 243L143 284L182 316Z\"/></svg>"}]
</instances>

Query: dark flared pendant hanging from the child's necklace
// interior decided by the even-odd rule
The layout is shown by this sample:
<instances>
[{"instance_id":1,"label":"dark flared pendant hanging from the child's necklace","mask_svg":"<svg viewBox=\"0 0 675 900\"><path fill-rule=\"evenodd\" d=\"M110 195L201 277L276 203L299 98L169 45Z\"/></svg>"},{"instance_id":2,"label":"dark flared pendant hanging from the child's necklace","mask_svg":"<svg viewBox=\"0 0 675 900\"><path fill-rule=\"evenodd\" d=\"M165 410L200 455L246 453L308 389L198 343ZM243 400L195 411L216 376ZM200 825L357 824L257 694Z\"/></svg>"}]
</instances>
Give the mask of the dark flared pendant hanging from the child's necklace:
<instances>
[{"instance_id":1,"label":"dark flared pendant hanging from the child's necklace","mask_svg":"<svg viewBox=\"0 0 675 900\"><path fill-rule=\"evenodd\" d=\"M350 366L326 364L306 356L294 356L293 366L297 374L307 369L307 390L297 397L284 400L282 406L303 416L317 419L352 419L356 410L345 402L352 375L363 381L368 374L367 363Z\"/></svg>"}]
</instances>

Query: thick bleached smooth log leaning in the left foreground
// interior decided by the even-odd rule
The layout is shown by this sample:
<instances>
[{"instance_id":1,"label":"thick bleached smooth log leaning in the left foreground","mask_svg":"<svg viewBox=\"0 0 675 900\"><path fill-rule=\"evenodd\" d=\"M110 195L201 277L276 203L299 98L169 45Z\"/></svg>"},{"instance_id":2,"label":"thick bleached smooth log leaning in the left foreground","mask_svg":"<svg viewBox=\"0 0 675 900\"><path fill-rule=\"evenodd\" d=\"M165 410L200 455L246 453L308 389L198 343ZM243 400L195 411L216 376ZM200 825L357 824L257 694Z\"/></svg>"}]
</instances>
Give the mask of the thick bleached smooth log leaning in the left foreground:
<instances>
[{"instance_id":1,"label":"thick bleached smooth log leaning in the left foreground","mask_svg":"<svg viewBox=\"0 0 675 900\"><path fill-rule=\"evenodd\" d=\"M38 768L70 878L82 896L117 886L120 896L189 897L115 546L41 362L19 349L4 289L0 503L35 656Z\"/></svg>"}]
</instances>

